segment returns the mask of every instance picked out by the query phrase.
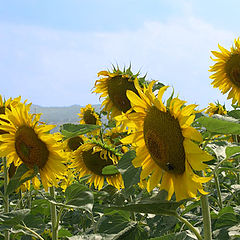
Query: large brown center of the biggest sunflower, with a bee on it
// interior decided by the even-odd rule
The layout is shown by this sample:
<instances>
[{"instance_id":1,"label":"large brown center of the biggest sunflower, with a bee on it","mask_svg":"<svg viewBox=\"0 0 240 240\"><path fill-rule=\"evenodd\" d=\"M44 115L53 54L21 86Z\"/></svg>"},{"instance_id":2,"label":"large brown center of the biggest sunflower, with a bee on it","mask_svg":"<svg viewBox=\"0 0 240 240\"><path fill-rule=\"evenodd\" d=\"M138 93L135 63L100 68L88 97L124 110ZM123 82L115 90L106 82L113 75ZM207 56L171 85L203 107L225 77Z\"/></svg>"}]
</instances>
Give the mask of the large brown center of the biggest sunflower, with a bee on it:
<instances>
[{"instance_id":1,"label":"large brown center of the biggest sunflower, with a bee on it","mask_svg":"<svg viewBox=\"0 0 240 240\"><path fill-rule=\"evenodd\" d=\"M151 107L144 120L144 140L154 162L173 174L185 171L184 137L177 119Z\"/></svg>"}]
</instances>

